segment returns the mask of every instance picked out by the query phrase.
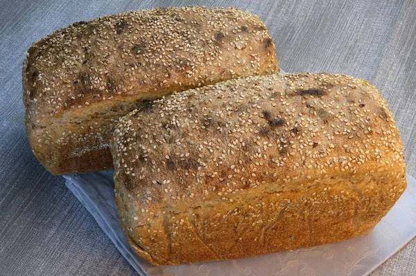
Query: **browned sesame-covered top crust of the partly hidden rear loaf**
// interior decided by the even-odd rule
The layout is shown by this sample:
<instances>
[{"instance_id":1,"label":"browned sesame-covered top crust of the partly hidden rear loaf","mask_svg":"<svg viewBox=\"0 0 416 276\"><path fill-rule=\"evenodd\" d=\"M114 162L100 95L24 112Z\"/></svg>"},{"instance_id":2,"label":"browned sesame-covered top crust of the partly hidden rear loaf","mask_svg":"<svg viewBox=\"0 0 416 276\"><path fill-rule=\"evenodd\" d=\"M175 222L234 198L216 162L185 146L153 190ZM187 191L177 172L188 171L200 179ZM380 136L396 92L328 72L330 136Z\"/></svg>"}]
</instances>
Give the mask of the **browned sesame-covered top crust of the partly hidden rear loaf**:
<instances>
[{"instance_id":1,"label":"browned sesame-covered top crust of the partly hidden rear loaf","mask_svg":"<svg viewBox=\"0 0 416 276\"><path fill-rule=\"evenodd\" d=\"M153 100L153 91L182 91L276 70L275 46L249 12L129 11L80 21L33 44L23 68L24 102L33 123L47 125L67 111L137 91Z\"/></svg>"}]
</instances>

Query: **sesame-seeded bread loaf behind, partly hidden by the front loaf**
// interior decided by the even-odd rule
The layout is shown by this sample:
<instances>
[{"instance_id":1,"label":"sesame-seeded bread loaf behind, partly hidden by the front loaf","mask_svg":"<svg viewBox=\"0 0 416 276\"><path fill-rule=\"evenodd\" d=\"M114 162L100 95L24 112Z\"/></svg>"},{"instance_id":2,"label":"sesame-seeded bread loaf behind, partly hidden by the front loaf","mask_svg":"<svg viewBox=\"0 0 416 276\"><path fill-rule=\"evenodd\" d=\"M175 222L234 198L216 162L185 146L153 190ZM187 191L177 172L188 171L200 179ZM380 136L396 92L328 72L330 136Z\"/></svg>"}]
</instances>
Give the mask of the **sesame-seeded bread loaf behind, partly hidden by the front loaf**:
<instances>
[{"instance_id":1,"label":"sesame-seeded bread loaf behind, partly hidden by the front loaf","mask_svg":"<svg viewBox=\"0 0 416 276\"><path fill-rule=\"evenodd\" d=\"M258 17L234 8L158 8L80 21L29 48L26 131L52 174L112 169L121 116L150 100L279 71Z\"/></svg>"}]
</instances>

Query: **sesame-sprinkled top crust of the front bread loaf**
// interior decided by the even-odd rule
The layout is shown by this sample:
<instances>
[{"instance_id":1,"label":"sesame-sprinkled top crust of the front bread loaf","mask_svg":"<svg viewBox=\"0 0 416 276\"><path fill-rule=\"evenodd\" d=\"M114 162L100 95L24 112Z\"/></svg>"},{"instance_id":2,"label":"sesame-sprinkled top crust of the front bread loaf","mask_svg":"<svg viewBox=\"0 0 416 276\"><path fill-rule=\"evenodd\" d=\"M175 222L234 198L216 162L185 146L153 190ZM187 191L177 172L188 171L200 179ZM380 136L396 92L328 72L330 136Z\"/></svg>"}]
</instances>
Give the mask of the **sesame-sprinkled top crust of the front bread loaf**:
<instances>
[{"instance_id":1,"label":"sesame-sprinkled top crust of the front bread loaf","mask_svg":"<svg viewBox=\"0 0 416 276\"><path fill-rule=\"evenodd\" d=\"M299 189L302 179L374 167L404 174L399 133L379 91L328 73L175 93L125 116L112 147L116 179L143 206L212 194L228 200L265 183Z\"/></svg>"}]
</instances>

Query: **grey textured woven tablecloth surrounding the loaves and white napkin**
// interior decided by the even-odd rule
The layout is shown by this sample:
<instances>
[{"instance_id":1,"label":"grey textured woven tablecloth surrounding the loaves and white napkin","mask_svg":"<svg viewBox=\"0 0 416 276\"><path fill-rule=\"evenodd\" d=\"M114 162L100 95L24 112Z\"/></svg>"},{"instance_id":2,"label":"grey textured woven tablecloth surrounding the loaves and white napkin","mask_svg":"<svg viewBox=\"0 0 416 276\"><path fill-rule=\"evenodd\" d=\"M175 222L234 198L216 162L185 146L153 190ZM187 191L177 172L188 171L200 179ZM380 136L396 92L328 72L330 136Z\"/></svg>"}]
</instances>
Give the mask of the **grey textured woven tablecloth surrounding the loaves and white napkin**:
<instances>
[{"instance_id":1,"label":"grey textured woven tablecloth surrounding the loaves and white napkin","mask_svg":"<svg viewBox=\"0 0 416 276\"><path fill-rule=\"evenodd\" d=\"M416 175L414 1L0 0L0 275L135 275L94 218L31 153L21 61L37 39L75 21L155 6L235 6L266 24L289 72L362 77L395 115ZM416 241L372 275L415 275Z\"/></svg>"}]
</instances>

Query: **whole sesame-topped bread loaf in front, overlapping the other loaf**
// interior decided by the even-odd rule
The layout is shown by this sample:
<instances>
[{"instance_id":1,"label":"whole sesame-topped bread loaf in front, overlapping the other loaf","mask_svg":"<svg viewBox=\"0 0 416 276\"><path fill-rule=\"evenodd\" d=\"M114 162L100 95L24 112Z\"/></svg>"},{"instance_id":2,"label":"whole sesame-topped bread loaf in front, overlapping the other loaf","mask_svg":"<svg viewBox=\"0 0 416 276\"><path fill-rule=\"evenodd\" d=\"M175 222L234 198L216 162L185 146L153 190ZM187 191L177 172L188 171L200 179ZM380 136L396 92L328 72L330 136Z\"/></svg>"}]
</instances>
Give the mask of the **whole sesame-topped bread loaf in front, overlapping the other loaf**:
<instances>
[{"instance_id":1,"label":"whole sesame-topped bread loaf in front, overlapping the other loaf","mask_svg":"<svg viewBox=\"0 0 416 276\"><path fill-rule=\"evenodd\" d=\"M406 189L401 139L365 80L229 80L133 111L112 139L116 205L155 265L236 259L372 230Z\"/></svg>"}]
</instances>

